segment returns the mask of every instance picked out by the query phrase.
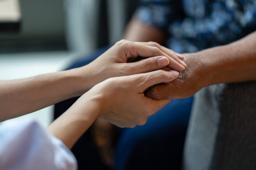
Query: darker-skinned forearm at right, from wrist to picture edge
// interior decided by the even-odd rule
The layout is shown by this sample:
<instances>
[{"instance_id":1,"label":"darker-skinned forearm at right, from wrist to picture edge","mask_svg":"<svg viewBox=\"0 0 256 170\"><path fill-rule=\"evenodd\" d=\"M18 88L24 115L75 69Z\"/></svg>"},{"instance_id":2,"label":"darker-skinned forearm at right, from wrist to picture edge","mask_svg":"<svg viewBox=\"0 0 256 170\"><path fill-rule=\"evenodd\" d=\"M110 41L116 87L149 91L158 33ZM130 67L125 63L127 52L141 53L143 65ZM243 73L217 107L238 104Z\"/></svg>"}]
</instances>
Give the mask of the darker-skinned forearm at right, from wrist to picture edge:
<instances>
[{"instance_id":1,"label":"darker-skinned forearm at right, from wrist to picture edge","mask_svg":"<svg viewBox=\"0 0 256 170\"><path fill-rule=\"evenodd\" d=\"M256 32L228 45L196 55L204 70L204 86L256 80Z\"/></svg>"}]
</instances>

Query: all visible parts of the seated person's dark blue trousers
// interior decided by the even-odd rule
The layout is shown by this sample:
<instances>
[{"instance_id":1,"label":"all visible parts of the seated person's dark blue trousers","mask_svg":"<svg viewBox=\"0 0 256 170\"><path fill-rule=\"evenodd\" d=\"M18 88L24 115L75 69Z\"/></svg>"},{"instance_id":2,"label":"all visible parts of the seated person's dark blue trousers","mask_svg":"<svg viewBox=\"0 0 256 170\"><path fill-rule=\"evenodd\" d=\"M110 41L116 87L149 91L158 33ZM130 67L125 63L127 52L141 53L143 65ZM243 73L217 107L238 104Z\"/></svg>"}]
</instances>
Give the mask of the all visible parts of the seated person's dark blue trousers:
<instances>
[{"instance_id":1,"label":"all visible parts of the seated person's dark blue trousers","mask_svg":"<svg viewBox=\"0 0 256 170\"><path fill-rule=\"evenodd\" d=\"M80 67L93 61L108 48L102 48L87 59L74 61L67 69ZM65 112L78 98L55 105L54 118ZM117 144L113 169L180 169L183 145L192 107L193 97L172 100L143 126L116 128ZM90 129L72 148L79 169L108 169L94 146Z\"/></svg>"}]
</instances>

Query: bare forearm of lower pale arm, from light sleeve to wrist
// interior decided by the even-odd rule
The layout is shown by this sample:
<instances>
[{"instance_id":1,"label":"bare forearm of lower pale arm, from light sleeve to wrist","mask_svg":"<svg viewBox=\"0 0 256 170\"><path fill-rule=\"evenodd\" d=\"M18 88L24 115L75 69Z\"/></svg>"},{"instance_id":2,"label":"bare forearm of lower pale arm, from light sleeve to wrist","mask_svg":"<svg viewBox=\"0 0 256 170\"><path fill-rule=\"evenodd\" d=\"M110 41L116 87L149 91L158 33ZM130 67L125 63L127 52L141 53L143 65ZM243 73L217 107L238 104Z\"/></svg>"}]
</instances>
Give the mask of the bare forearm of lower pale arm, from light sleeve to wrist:
<instances>
[{"instance_id":1,"label":"bare forearm of lower pale arm, from light sleeve to wrist","mask_svg":"<svg viewBox=\"0 0 256 170\"><path fill-rule=\"evenodd\" d=\"M90 96L85 99L78 99L48 127L48 130L68 148L73 147L100 114L98 97Z\"/></svg>"}]
</instances>

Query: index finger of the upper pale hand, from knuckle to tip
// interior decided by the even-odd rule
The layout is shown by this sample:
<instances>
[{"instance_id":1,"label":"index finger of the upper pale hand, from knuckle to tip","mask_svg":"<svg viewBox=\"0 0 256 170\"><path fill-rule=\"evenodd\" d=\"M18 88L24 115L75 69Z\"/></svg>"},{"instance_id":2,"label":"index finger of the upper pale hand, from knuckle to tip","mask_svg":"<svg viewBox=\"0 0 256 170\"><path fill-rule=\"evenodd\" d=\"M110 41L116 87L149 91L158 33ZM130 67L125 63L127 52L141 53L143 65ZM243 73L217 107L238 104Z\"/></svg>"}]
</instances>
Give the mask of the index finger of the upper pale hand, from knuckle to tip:
<instances>
[{"instance_id":1,"label":"index finger of the upper pale hand, from knuckle to tip","mask_svg":"<svg viewBox=\"0 0 256 170\"><path fill-rule=\"evenodd\" d=\"M127 46L125 48L125 53L127 59L141 56L141 57L154 57L154 56L165 56L170 60L168 67L177 70L183 71L185 67L178 63L175 59L161 51L159 48L155 46L145 45L142 43L135 42L126 42Z\"/></svg>"}]
</instances>

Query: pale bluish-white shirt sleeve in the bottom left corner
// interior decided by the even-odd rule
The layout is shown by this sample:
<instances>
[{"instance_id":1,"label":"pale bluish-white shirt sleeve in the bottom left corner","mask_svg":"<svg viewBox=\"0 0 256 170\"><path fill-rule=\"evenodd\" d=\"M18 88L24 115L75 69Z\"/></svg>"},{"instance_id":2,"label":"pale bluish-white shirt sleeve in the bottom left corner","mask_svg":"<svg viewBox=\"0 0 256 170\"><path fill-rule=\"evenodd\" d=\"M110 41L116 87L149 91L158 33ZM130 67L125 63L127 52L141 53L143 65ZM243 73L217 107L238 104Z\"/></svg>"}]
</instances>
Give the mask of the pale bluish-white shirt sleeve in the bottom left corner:
<instances>
[{"instance_id":1,"label":"pale bluish-white shirt sleeve in the bottom left corner","mask_svg":"<svg viewBox=\"0 0 256 170\"><path fill-rule=\"evenodd\" d=\"M32 120L10 120L0 126L1 170L75 170L72 152Z\"/></svg>"}]
</instances>

